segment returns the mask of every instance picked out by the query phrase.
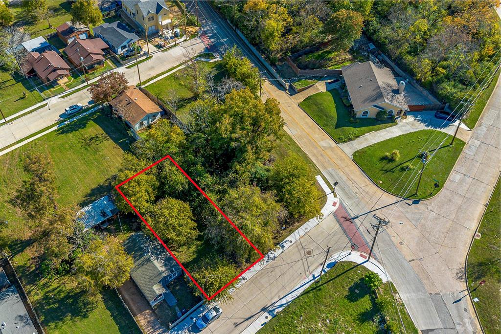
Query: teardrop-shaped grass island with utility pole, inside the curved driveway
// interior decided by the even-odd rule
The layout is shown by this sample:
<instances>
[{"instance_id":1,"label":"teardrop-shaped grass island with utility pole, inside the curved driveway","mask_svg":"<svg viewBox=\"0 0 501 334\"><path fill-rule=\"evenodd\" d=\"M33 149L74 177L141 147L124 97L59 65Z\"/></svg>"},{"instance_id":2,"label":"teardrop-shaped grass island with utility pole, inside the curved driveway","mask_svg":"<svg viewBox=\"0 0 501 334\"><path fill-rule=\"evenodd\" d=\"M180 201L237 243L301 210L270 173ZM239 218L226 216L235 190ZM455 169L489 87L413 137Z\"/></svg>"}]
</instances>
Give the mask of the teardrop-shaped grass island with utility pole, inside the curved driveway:
<instances>
[{"instance_id":1,"label":"teardrop-shaped grass island with utility pole, inside the curved driveway","mask_svg":"<svg viewBox=\"0 0 501 334\"><path fill-rule=\"evenodd\" d=\"M425 149L428 149L428 153L435 154L435 156L424 169L419 192L417 194L415 193L417 186L416 179L416 182L407 195L404 195L403 192L400 193L403 188L409 186L408 184L406 185L406 182L411 175L410 168L402 180L396 185L393 183L398 181L402 174L405 173L407 166L412 162L414 157L419 155L419 150L422 149L428 137L435 133L435 131L438 132L438 135L435 134L431 140L431 142L433 142L435 138L438 137L435 144L432 148L428 148L431 143L428 143L427 147L425 147ZM364 147L353 153L353 160L374 183L384 190L397 196L400 194L400 196L413 199L426 199L436 194L442 188L465 144L463 141L456 138L454 144L450 146L449 143L452 137L449 136L443 146L436 150L437 145L445 136L447 136L445 133L438 130L420 130L407 133ZM385 159L385 153L391 153L393 150L398 150L400 152L400 158L397 161ZM415 170L412 176L412 179L414 179L417 172L421 169L419 157L412 162L412 167ZM434 187L435 179L439 181L438 188Z\"/></svg>"}]
</instances>

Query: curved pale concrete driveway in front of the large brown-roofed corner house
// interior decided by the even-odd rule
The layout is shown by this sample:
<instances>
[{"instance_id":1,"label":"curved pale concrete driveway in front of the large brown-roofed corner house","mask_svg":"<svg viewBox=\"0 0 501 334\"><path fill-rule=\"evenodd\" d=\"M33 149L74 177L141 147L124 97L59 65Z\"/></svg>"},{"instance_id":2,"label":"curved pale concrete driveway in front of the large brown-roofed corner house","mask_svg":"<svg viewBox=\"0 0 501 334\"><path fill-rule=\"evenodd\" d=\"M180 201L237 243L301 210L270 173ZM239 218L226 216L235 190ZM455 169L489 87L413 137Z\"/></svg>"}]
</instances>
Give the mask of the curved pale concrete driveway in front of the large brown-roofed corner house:
<instances>
[{"instance_id":1,"label":"curved pale concrete driveway in front of the large brown-roofed corner house","mask_svg":"<svg viewBox=\"0 0 501 334\"><path fill-rule=\"evenodd\" d=\"M398 124L383 130L369 132L351 142L345 144L338 144L338 146L351 157L355 151L358 151L369 145L378 143L380 141L404 135L406 133L419 131L419 130L440 130L448 134L454 134L459 121L452 123L435 118L434 111L421 111L407 113L407 119L398 119ZM462 129L469 130L464 124L460 126ZM458 138L462 141L468 141L470 133L461 131L458 133Z\"/></svg>"}]
</instances>

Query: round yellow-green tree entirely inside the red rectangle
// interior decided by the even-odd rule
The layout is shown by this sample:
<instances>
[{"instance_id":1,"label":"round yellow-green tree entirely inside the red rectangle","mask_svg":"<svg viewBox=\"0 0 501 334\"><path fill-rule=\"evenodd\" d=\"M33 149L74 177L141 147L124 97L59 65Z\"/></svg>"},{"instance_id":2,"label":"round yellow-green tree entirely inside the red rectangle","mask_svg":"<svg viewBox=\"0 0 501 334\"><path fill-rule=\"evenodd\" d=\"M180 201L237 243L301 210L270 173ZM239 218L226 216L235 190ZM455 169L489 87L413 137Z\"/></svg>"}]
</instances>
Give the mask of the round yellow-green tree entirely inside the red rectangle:
<instances>
[{"instance_id":1,"label":"round yellow-green tree entirely inside the red rectangle","mask_svg":"<svg viewBox=\"0 0 501 334\"><path fill-rule=\"evenodd\" d=\"M146 220L165 244L176 249L197 237L198 230L193 219L188 203L164 198L151 207Z\"/></svg>"}]
</instances>

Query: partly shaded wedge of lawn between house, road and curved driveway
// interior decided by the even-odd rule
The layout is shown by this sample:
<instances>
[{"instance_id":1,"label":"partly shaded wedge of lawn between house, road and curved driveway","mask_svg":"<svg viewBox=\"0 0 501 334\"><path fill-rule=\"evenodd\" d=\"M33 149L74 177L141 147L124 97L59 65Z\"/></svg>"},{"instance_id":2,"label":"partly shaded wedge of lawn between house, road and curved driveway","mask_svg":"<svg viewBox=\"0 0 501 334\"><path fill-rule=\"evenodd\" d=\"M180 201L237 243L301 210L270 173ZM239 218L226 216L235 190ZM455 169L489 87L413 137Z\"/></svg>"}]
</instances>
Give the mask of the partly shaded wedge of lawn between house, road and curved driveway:
<instances>
[{"instance_id":1,"label":"partly shaded wedge of lawn between house, road and curved driveway","mask_svg":"<svg viewBox=\"0 0 501 334\"><path fill-rule=\"evenodd\" d=\"M335 89L313 94L299 106L338 143L346 143L371 131L397 124L391 119L378 121L374 118L358 118L358 123L351 123L348 108Z\"/></svg>"}]
</instances>

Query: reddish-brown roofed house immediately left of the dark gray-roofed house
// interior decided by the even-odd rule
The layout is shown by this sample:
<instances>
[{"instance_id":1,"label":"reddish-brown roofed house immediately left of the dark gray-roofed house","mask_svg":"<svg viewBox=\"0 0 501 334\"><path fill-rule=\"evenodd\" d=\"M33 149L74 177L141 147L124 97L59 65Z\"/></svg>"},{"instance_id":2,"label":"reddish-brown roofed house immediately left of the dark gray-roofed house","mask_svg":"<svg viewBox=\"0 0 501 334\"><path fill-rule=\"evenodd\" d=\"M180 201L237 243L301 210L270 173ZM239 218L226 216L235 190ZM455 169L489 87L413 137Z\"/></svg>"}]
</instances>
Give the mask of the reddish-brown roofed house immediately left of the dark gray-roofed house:
<instances>
[{"instance_id":1,"label":"reddish-brown roofed house immediately left of the dark gray-roofed house","mask_svg":"<svg viewBox=\"0 0 501 334\"><path fill-rule=\"evenodd\" d=\"M89 70L104 65L104 54L108 48L108 45L100 38L75 39L64 49L64 52L73 65L80 67L84 64Z\"/></svg>"}]
</instances>

